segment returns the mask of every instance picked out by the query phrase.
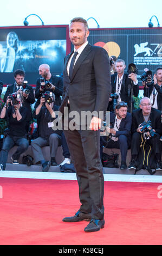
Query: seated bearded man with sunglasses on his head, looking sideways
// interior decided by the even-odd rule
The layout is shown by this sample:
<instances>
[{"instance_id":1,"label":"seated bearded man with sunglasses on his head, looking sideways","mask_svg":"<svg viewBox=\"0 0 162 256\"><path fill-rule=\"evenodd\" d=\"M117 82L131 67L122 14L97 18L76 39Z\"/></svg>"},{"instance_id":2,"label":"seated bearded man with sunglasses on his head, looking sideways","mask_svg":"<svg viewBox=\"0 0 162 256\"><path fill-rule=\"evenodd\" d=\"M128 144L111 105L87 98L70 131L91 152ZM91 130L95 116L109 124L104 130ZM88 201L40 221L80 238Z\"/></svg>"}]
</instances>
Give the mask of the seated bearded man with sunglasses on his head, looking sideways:
<instances>
[{"instance_id":1,"label":"seated bearded man with sunglasses on his head, looking sideways","mask_svg":"<svg viewBox=\"0 0 162 256\"><path fill-rule=\"evenodd\" d=\"M127 112L128 105L124 101L119 102L115 106L114 112L110 113L110 124L111 127L106 127L107 132L110 133L108 142L106 137L101 137L101 152L102 145L106 148L117 148L120 149L121 153L121 166L120 169L124 170L127 168L126 157L129 142L131 138L131 124L132 115Z\"/></svg>"}]
</instances>

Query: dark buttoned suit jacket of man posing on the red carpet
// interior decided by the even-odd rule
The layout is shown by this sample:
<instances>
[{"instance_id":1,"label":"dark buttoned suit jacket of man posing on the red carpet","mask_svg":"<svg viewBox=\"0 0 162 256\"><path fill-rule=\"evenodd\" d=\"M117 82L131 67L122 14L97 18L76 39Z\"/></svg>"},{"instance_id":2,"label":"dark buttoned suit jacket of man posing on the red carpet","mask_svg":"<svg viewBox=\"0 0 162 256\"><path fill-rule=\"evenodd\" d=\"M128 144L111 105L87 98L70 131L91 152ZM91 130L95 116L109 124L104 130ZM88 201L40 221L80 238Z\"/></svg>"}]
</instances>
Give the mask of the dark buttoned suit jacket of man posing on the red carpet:
<instances>
[{"instance_id":1,"label":"dark buttoned suit jacket of man posing on the red carpet","mask_svg":"<svg viewBox=\"0 0 162 256\"><path fill-rule=\"evenodd\" d=\"M111 92L111 76L108 53L105 49L92 46L89 43L77 59L73 76L70 80L67 73L67 64L71 52L64 59L63 96L60 111L67 106L70 111L105 112Z\"/></svg>"}]
</instances>

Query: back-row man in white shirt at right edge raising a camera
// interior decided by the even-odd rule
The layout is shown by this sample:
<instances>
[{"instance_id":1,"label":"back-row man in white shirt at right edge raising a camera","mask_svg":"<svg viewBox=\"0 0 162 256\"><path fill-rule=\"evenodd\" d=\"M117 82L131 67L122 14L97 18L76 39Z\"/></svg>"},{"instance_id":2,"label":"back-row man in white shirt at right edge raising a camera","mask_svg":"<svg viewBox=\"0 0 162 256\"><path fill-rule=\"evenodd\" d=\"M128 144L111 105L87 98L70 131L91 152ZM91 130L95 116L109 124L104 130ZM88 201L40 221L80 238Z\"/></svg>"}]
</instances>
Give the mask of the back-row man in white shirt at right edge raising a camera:
<instances>
[{"instance_id":1,"label":"back-row man in white shirt at right edge raising a camera","mask_svg":"<svg viewBox=\"0 0 162 256\"><path fill-rule=\"evenodd\" d=\"M148 72L148 71L147 71ZM162 67L156 69L153 76L153 81L151 77L151 83L148 83L148 76L146 72L145 77L142 80L142 85L144 86L144 96L147 96L151 100L153 108L162 110ZM150 71L151 72L151 71ZM146 80L146 81L144 81Z\"/></svg>"}]
</instances>

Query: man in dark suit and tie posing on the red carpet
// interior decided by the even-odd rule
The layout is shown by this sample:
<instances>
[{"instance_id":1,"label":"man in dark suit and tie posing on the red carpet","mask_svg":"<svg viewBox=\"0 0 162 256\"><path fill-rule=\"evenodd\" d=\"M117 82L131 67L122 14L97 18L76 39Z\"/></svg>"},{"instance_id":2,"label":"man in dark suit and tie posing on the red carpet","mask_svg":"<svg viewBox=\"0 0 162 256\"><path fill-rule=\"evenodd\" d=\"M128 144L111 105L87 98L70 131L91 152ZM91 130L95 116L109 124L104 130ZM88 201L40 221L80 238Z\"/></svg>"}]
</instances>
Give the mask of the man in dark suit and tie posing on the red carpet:
<instances>
[{"instance_id":1,"label":"man in dark suit and tie posing on the red carpet","mask_svg":"<svg viewBox=\"0 0 162 256\"><path fill-rule=\"evenodd\" d=\"M75 120L79 129L65 129L64 126L64 135L76 169L81 206L73 217L63 218L63 221L89 220L85 231L91 232L100 230L105 224L99 112L106 111L111 92L110 63L105 49L88 43L86 20L74 18L69 26L69 35L74 51L64 59L64 89L60 111L64 119L64 107L68 106L69 115L74 111L79 114L79 119ZM73 57L76 57L75 61ZM81 115L87 111L93 112L93 117L83 125L83 129Z\"/></svg>"}]
</instances>

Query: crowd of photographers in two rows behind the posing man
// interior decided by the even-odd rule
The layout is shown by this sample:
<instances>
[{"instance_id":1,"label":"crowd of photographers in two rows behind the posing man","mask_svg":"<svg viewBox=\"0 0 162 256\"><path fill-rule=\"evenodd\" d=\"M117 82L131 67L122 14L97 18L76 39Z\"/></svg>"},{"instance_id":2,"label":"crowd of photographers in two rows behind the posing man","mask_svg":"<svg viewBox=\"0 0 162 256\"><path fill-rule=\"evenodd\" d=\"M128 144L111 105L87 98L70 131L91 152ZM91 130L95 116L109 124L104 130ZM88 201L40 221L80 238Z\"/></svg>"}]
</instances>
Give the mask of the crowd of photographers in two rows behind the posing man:
<instances>
[{"instance_id":1,"label":"crowd of photographers in two rows behind the posing man","mask_svg":"<svg viewBox=\"0 0 162 256\"><path fill-rule=\"evenodd\" d=\"M127 150L131 148L132 159L129 169L137 169L138 155L144 143L150 145L155 155L155 170L161 170L161 110L162 110L162 68L154 76L148 69L140 77L144 86L144 97L138 109L134 107L134 96L139 95L138 70L132 63L125 73L125 61L111 57L112 93L107 111L110 125L106 125L108 136L100 137L101 159L103 146L119 148L121 152L120 169L126 169ZM25 81L23 70L14 73L15 82L7 87L4 106L0 118L7 120L3 146L0 153L0 170L5 170L9 150L17 145L12 155L12 163L18 164L20 155L31 150L35 163L41 163L42 171L48 172L50 165L56 166L57 148L62 145L64 163L70 163L70 153L64 133L54 129L55 111L61 105L63 92L62 77L53 76L47 64L40 65L40 78L33 88ZM0 93L3 83L0 81ZM36 120L36 132L31 134L31 123ZM34 130L34 131L35 131ZM32 130L33 131L33 130ZM41 148L50 147L50 161L44 160Z\"/></svg>"}]
</instances>

